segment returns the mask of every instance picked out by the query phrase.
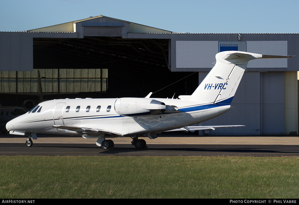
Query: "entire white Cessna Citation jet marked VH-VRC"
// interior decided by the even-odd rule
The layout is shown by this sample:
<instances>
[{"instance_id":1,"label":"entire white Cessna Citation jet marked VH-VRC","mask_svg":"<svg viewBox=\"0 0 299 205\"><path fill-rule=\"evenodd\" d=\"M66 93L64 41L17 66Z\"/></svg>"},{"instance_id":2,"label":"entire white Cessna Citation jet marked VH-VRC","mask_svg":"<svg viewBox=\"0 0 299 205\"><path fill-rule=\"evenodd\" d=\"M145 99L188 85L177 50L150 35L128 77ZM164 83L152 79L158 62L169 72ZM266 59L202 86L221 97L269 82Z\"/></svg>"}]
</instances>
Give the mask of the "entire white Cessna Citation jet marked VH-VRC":
<instances>
[{"instance_id":1,"label":"entire white Cessna Citation jet marked VH-VRC","mask_svg":"<svg viewBox=\"0 0 299 205\"><path fill-rule=\"evenodd\" d=\"M216 54L216 64L192 95L179 99L116 98L60 99L39 103L28 113L7 122L10 134L29 136L28 147L36 133L79 135L97 138L104 149L114 147L114 137L131 137L136 148L146 147L144 139L156 133L177 130L204 130L231 126L191 126L217 117L231 109L231 101L249 60L290 58L293 56L261 55L240 51Z\"/></svg>"}]
</instances>

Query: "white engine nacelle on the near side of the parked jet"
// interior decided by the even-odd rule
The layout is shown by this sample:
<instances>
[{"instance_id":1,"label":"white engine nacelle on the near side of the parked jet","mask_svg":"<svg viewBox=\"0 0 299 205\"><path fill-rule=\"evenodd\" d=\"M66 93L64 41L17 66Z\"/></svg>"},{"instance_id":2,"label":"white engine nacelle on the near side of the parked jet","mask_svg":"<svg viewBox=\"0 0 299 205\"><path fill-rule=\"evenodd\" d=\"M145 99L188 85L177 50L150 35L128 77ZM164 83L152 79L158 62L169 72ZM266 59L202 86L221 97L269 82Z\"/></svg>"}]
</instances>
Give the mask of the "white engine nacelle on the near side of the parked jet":
<instances>
[{"instance_id":1,"label":"white engine nacelle on the near side of the parked jet","mask_svg":"<svg viewBox=\"0 0 299 205\"><path fill-rule=\"evenodd\" d=\"M117 114L126 117L141 117L154 115L165 111L164 102L149 98L123 97L115 101L114 109Z\"/></svg>"}]
</instances>

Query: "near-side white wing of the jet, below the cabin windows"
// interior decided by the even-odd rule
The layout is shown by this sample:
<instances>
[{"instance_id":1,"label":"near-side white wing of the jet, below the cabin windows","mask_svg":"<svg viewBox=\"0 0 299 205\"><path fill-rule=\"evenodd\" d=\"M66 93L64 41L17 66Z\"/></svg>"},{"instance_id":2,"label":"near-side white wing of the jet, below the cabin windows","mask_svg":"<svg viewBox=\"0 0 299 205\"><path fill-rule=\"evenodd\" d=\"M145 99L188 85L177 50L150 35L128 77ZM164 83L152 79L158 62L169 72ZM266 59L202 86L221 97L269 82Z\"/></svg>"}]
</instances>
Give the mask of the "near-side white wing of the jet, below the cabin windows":
<instances>
[{"instance_id":1,"label":"near-side white wing of the jet, below the cabin windows","mask_svg":"<svg viewBox=\"0 0 299 205\"><path fill-rule=\"evenodd\" d=\"M83 128L83 127L67 126L67 125L52 125L51 127L63 129L63 130L75 131L84 138L93 138L95 135L98 136L99 134L110 134L110 135L115 134L115 135L122 136L119 133L114 133L109 130L102 130L97 128Z\"/></svg>"}]
</instances>

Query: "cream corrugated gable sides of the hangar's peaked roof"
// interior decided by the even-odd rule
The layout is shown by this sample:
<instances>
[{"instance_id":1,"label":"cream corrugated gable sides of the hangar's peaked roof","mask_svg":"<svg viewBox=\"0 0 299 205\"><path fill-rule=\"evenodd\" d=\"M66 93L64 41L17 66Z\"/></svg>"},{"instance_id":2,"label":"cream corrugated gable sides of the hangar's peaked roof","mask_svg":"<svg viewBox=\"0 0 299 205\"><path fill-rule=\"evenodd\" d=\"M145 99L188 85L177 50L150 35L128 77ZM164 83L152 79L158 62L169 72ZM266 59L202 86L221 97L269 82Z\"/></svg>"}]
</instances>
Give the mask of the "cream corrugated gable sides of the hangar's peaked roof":
<instances>
[{"instance_id":1,"label":"cream corrugated gable sides of the hangar's peaked roof","mask_svg":"<svg viewBox=\"0 0 299 205\"><path fill-rule=\"evenodd\" d=\"M77 21L71 21L68 23L58 24L58 25L54 25L54 26L48 26L48 27L43 27L43 28L38 28L38 29L31 29L31 30L28 30L27 32L75 32L74 24L83 22L83 21L90 21L92 19L98 19L100 21L101 20L100 18L109 19L111 21L119 21L119 22L128 23L128 24L130 24L130 31L129 31L130 33L172 33L171 31L167 31L164 29L149 27L149 26L145 26L142 24L136 24L133 22L124 21L124 20L120 20L120 19L116 19L116 18L110 18L110 17L103 16L103 15L98 15L95 17L91 16L89 18L85 18L85 19L81 19L81 20L77 20Z\"/></svg>"}]
</instances>

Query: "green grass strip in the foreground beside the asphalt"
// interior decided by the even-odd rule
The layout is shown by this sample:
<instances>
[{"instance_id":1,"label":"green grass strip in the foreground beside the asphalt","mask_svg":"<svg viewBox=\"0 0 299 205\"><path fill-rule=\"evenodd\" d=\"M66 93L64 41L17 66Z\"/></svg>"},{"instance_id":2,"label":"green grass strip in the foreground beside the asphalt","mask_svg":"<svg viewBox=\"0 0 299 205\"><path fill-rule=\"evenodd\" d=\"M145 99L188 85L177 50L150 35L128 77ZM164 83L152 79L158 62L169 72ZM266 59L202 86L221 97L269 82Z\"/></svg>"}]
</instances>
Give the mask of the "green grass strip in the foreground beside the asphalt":
<instances>
[{"instance_id":1,"label":"green grass strip in the foreground beside the asphalt","mask_svg":"<svg viewBox=\"0 0 299 205\"><path fill-rule=\"evenodd\" d=\"M298 198L298 160L0 156L0 198Z\"/></svg>"}]
</instances>

